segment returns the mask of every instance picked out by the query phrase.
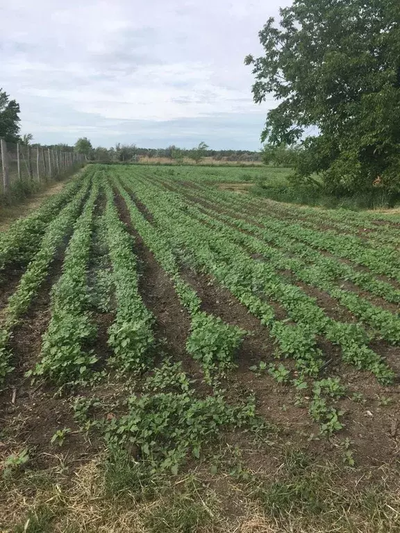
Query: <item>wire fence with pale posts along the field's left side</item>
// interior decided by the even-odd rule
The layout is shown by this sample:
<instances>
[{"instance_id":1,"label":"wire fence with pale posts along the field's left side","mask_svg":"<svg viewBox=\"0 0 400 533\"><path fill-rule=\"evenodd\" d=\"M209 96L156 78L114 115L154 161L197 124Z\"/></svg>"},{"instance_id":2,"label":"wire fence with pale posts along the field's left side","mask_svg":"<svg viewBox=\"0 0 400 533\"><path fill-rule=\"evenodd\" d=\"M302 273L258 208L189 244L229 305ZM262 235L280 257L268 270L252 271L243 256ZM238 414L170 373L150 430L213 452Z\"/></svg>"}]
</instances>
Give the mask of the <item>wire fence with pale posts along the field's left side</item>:
<instances>
[{"instance_id":1,"label":"wire fence with pale posts along the field's left side","mask_svg":"<svg viewBox=\"0 0 400 533\"><path fill-rule=\"evenodd\" d=\"M1 167L0 194L7 195L20 183L46 183L81 167L85 156L63 152L44 146L12 144L0 138Z\"/></svg>"}]
</instances>

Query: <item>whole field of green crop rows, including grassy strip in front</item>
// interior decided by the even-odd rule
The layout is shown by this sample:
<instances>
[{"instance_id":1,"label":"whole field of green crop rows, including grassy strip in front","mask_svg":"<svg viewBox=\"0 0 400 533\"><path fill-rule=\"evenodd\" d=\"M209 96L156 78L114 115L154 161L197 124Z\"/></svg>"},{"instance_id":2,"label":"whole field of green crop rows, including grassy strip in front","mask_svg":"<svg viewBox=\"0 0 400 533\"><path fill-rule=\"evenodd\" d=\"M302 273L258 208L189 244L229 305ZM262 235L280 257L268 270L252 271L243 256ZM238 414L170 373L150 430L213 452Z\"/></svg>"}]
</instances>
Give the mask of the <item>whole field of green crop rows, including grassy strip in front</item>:
<instances>
[{"instance_id":1,"label":"whole field of green crop rows, including grassy strip in front","mask_svg":"<svg viewBox=\"0 0 400 533\"><path fill-rule=\"evenodd\" d=\"M0 531L400 531L400 215L92 164L0 232Z\"/></svg>"}]
</instances>

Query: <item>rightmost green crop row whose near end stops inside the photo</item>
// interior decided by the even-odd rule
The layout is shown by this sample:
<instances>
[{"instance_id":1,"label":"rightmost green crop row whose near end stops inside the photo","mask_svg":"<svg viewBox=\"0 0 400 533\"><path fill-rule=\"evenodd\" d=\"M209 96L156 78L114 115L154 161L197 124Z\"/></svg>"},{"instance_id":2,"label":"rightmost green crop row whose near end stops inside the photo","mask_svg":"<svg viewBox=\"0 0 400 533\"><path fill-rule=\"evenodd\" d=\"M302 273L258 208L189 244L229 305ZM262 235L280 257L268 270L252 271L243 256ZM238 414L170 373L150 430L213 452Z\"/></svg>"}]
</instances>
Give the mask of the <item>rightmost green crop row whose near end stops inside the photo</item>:
<instances>
[{"instance_id":1,"label":"rightmost green crop row whose near end stops inside the photo","mask_svg":"<svg viewBox=\"0 0 400 533\"><path fill-rule=\"evenodd\" d=\"M140 199L143 199L151 210L163 232L174 239L176 246L185 246L203 267L215 277L218 275L219 280L225 285L227 280L233 280L233 282L228 281L228 288L231 291L235 285L247 289L247 296L251 296L251 301L247 302L249 310L253 308L251 304L255 303L254 299L263 301L255 297L254 293L265 294L283 305L290 318L306 328L310 335L314 337L324 335L334 344L338 344L342 348L342 357L346 362L355 364L358 368L369 369L382 382L392 380L392 371L387 368L378 354L368 348L366 343L369 339L360 325L329 319L316 305L314 298L310 298L299 287L290 285L281 276L276 275L274 269L267 263L254 261L230 239L194 221L186 213L188 206L182 204L174 194L160 194L160 189L157 191L158 194L154 194L156 191L151 191L148 183L147 187L140 187L137 180L131 184L135 193L140 191ZM220 267L222 271L219 270ZM235 290L235 296L238 296L239 292ZM272 316L265 323L273 326L274 321Z\"/></svg>"}]
</instances>

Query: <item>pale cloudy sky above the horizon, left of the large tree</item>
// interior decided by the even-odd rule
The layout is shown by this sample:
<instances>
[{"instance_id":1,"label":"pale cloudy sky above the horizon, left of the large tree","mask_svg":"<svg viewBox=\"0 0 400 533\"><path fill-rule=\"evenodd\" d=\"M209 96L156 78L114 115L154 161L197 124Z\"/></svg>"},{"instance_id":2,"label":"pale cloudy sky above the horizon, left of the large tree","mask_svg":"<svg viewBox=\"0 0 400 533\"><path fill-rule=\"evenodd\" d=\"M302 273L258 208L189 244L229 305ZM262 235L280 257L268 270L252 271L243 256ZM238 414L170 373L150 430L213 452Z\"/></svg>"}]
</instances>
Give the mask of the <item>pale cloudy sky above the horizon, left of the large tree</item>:
<instances>
[{"instance_id":1,"label":"pale cloudy sky above the horizon, left of the large tree","mask_svg":"<svg viewBox=\"0 0 400 533\"><path fill-rule=\"evenodd\" d=\"M0 87L37 142L258 149L247 53L290 0L0 0Z\"/></svg>"}]
</instances>

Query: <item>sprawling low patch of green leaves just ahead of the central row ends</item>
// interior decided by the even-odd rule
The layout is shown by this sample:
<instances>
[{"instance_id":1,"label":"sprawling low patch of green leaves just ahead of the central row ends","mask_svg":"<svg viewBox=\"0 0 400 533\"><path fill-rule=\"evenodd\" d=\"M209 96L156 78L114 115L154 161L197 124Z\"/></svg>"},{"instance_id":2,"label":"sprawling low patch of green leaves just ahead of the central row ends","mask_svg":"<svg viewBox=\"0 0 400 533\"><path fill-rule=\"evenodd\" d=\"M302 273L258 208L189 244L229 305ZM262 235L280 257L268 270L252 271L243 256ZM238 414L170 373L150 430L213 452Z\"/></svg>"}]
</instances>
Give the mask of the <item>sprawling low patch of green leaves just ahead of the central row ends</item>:
<instances>
[{"instance_id":1,"label":"sprawling low patch of green leaves just ahead of the central row ends","mask_svg":"<svg viewBox=\"0 0 400 533\"><path fill-rule=\"evenodd\" d=\"M106 416L97 425L106 441L137 450L141 459L176 474L189 452L199 457L207 443L226 428L253 425L256 421L254 398L242 405L228 405L222 395L197 398L194 391L132 396L122 416ZM80 410L84 416L85 409Z\"/></svg>"}]
</instances>

